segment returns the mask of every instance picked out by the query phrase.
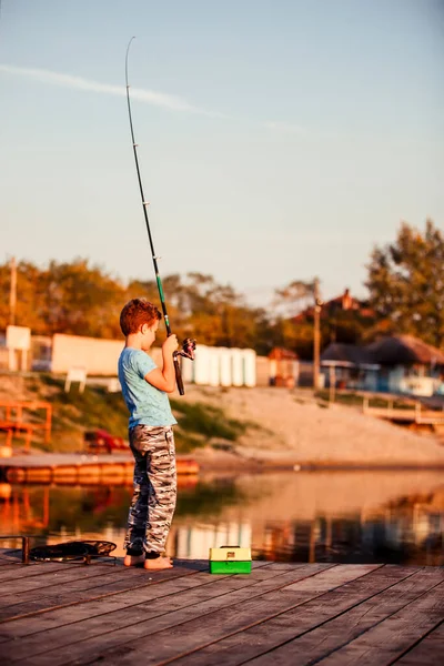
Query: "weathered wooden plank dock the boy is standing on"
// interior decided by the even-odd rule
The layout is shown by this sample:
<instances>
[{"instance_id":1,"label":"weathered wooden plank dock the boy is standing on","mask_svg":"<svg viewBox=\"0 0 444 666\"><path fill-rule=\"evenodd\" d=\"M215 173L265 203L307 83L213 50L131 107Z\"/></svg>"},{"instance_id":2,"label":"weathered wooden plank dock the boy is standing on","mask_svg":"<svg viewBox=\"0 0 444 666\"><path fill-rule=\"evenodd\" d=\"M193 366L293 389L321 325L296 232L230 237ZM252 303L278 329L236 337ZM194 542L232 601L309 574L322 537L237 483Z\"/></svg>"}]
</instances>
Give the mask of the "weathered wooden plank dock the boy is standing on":
<instances>
[{"instance_id":1,"label":"weathered wooden plank dock the boy is standing on","mask_svg":"<svg viewBox=\"0 0 444 666\"><path fill-rule=\"evenodd\" d=\"M441 567L255 562L214 576L204 561L151 573L0 557L3 665L442 664Z\"/></svg>"}]
</instances>

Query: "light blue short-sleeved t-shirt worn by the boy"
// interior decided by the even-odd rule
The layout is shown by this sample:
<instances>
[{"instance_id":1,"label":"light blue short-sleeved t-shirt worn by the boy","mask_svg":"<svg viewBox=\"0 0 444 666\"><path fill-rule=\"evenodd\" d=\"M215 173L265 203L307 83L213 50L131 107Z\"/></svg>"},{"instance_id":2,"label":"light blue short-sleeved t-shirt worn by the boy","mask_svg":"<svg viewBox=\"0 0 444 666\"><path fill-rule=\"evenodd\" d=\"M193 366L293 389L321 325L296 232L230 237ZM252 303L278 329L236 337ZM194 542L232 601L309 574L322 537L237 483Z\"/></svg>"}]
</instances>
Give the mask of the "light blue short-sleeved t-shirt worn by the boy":
<instances>
[{"instance_id":1,"label":"light blue short-sleeved t-shirt worn by the boy","mask_svg":"<svg viewBox=\"0 0 444 666\"><path fill-rule=\"evenodd\" d=\"M130 427L178 423L171 413L167 393L143 379L155 367L154 361L142 350L124 347L120 354L119 381L130 411Z\"/></svg>"}]
</instances>

